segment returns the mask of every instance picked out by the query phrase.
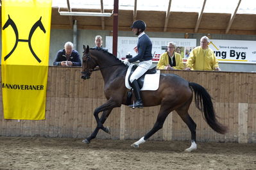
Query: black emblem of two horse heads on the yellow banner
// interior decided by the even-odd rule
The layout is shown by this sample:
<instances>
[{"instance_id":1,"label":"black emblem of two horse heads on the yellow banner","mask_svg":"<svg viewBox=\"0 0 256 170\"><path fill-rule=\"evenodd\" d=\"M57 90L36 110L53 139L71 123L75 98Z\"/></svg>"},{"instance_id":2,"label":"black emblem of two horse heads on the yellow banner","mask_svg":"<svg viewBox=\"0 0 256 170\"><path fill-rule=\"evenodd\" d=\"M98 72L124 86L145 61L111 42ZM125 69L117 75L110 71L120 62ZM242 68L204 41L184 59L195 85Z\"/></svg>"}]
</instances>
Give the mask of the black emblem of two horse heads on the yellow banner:
<instances>
[{"instance_id":1,"label":"black emblem of two horse heads on the yellow banner","mask_svg":"<svg viewBox=\"0 0 256 170\"><path fill-rule=\"evenodd\" d=\"M28 40L23 40L23 39L19 39L19 33L18 33L17 26L16 26L16 24L13 22L13 20L10 18L10 15L8 15L8 20L5 22L5 24L4 24L4 26L3 26L3 30L6 29L6 27L8 27L8 26L12 26L12 29L13 29L13 31L14 31L14 33L15 33L15 36L16 36L16 42L15 42L15 45L14 45L13 49L9 52L9 54L7 54L7 55L4 57L4 61L5 61L6 59L8 59L8 58L12 55L13 51L16 49L16 47L17 47L17 45L18 45L18 42L28 42L28 46L30 47L31 53L33 54L33 56L35 57L35 59L37 59L38 63L41 62L41 60L37 57L37 54L35 54L35 52L34 52L33 49L32 49L32 46L31 46L31 38L32 38L32 35L33 35L33 33L35 32L35 30L37 29L37 27L40 27L40 29L41 29L44 33L46 33L46 29L44 29L44 26L43 26L43 24L42 24L42 22L41 22L41 19L42 19L42 17L40 17L40 19L39 19L37 22L35 22L35 24L31 27L31 29L30 29L30 35L28 36Z\"/></svg>"}]
</instances>

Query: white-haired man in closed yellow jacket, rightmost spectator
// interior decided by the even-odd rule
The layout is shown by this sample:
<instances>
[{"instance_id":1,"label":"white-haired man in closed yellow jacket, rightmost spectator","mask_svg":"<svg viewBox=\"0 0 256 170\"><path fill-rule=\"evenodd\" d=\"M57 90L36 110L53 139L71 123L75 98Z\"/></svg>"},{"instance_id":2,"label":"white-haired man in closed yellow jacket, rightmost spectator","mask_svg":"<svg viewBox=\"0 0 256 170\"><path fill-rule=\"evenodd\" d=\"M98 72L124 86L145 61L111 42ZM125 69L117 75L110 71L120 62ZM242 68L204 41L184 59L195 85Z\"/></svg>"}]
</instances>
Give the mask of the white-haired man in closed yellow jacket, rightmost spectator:
<instances>
[{"instance_id":1,"label":"white-haired man in closed yellow jacket, rightmost spectator","mask_svg":"<svg viewBox=\"0 0 256 170\"><path fill-rule=\"evenodd\" d=\"M194 48L189 54L185 70L221 70L218 59L208 44L209 38L203 36L200 40L200 46Z\"/></svg>"}]
</instances>

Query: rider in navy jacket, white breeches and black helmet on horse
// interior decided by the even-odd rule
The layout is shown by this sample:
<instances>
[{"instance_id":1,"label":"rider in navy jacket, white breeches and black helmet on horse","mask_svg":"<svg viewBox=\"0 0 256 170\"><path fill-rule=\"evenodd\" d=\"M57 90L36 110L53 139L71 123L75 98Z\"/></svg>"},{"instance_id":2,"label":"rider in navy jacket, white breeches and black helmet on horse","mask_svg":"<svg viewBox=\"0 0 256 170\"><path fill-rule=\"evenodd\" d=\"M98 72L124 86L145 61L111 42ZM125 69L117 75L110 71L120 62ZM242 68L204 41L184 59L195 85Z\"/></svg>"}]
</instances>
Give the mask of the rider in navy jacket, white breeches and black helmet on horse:
<instances>
[{"instance_id":1,"label":"rider in navy jacket, white breeches and black helmet on horse","mask_svg":"<svg viewBox=\"0 0 256 170\"><path fill-rule=\"evenodd\" d=\"M145 22L143 22L142 20L135 20L131 27L133 33L135 33L135 35L137 35L139 38L137 43L138 54L133 58L125 59L124 64L129 65L130 63L139 60L139 65L136 68L136 70L132 73L130 81L132 82L132 88L135 92L135 97L137 99L134 104L134 107L142 108L143 104L141 99L141 89L139 88L137 79L139 79L139 77L141 77L146 71L148 71L148 69L152 65L152 43L148 35L144 33L144 30L146 29ZM133 105L129 105L129 107L133 107Z\"/></svg>"}]
</instances>

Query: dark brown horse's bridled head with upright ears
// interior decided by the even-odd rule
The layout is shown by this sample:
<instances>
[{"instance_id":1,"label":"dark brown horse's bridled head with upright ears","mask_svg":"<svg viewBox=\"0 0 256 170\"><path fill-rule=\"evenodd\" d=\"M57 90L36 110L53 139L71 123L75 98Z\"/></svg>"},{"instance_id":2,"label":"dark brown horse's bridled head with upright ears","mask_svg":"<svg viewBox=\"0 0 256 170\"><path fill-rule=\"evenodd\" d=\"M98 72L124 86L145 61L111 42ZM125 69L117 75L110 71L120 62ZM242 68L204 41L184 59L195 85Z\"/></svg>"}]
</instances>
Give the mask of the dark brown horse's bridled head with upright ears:
<instances>
[{"instance_id":1,"label":"dark brown horse's bridled head with upright ears","mask_svg":"<svg viewBox=\"0 0 256 170\"><path fill-rule=\"evenodd\" d=\"M85 48L85 45L83 45L83 58L82 58L82 71L81 71L81 79L90 79L90 75L92 74L92 71L94 68L98 65L96 61L90 56L89 52L89 46Z\"/></svg>"}]
</instances>

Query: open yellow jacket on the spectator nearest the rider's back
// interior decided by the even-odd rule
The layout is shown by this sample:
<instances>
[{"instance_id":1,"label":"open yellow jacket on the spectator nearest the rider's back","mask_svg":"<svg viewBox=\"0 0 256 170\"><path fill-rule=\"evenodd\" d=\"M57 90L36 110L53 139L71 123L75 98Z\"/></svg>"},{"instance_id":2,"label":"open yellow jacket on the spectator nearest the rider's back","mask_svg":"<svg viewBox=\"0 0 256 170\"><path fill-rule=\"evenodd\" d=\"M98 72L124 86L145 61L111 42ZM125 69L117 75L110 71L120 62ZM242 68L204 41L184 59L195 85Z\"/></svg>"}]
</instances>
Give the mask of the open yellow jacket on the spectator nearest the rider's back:
<instances>
[{"instance_id":1,"label":"open yellow jacket on the spectator nearest the rider's back","mask_svg":"<svg viewBox=\"0 0 256 170\"><path fill-rule=\"evenodd\" d=\"M182 57L177 52L175 52L175 61L176 61L176 66L173 66L173 68L175 70L183 70L184 65L182 63ZM164 52L160 56L160 59L157 63L157 69L164 69L164 67L167 65L169 65L169 56L168 56L168 52Z\"/></svg>"}]
</instances>

